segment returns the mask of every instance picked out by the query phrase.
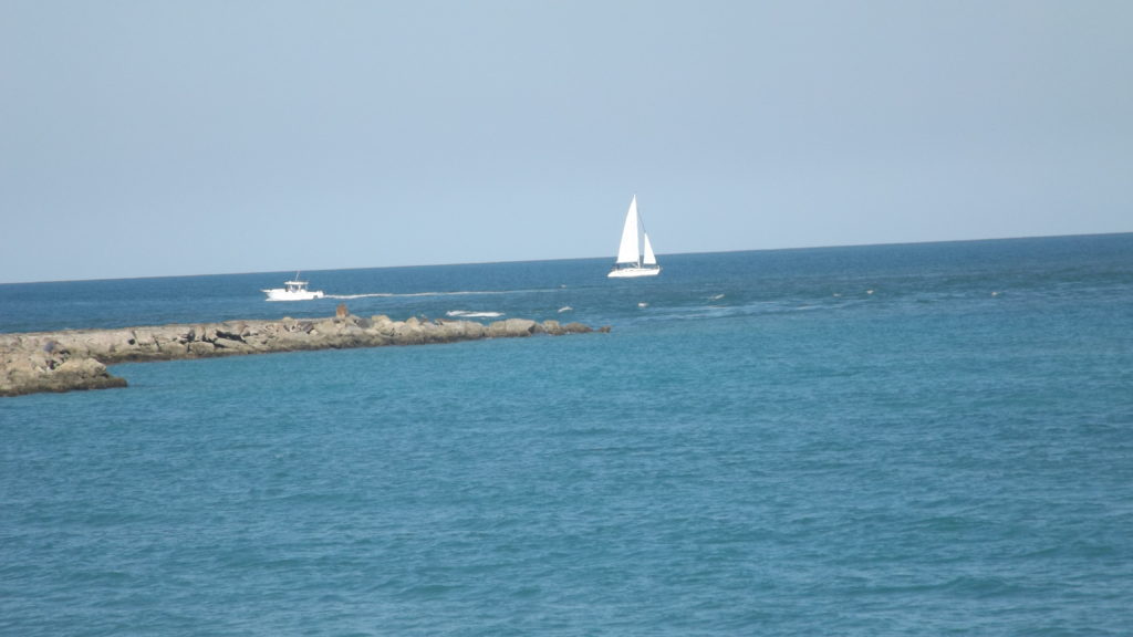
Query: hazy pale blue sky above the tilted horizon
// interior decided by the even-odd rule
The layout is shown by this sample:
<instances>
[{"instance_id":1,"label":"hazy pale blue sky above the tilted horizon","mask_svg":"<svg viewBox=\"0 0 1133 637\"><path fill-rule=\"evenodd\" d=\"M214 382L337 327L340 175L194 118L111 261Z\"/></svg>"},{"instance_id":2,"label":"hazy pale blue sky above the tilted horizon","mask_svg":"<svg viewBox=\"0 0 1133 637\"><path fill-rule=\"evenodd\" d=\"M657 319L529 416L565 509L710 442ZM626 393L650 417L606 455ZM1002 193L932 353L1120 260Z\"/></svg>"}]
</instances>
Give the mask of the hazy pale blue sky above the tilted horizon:
<instances>
[{"instance_id":1,"label":"hazy pale blue sky above the tilted horizon","mask_svg":"<svg viewBox=\"0 0 1133 637\"><path fill-rule=\"evenodd\" d=\"M0 282L1133 231L1133 2L0 0Z\"/></svg>"}]
</instances>

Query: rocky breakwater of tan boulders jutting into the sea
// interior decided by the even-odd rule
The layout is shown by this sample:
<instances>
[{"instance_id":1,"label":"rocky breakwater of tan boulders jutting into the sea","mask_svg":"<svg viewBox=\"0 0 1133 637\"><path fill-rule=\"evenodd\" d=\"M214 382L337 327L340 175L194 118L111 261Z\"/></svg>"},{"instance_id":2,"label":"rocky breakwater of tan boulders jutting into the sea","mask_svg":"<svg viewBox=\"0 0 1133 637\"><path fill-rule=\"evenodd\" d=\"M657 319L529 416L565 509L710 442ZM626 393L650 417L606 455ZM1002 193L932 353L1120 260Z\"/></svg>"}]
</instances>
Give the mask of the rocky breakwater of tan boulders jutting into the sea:
<instances>
[{"instance_id":1,"label":"rocky breakwater of tan boulders jutting into the sea","mask_svg":"<svg viewBox=\"0 0 1133 637\"><path fill-rule=\"evenodd\" d=\"M309 349L442 343L593 332L581 323L509 318L364 318L341 311L316 320L229 321L114 330L0 333L0 396L126 387L107 365ZM602 328L598 331L608 331Z\"/></svg>"}]
</instances>

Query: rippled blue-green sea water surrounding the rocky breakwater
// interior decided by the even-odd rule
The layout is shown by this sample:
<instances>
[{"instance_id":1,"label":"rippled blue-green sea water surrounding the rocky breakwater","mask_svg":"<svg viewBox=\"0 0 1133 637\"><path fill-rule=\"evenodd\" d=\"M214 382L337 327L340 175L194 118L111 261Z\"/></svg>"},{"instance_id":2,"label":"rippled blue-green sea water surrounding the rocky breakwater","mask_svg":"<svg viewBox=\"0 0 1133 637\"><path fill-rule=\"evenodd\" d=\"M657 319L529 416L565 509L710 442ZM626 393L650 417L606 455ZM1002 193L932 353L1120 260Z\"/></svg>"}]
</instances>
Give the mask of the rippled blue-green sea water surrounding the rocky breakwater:
<instances>
[{"instance_id":1,"label":"rippled blue-green sea water surrounding the rocky breakwater","mask_svg":"<svg viewBox=\"0 0 1133 637\"><path fill-rule=\"evenodd\" d=\"M0 399L0 634L1133 631L1133 235L661 260L0 286L0 331L613 328Z\"/></svg>"}]
</instances>

